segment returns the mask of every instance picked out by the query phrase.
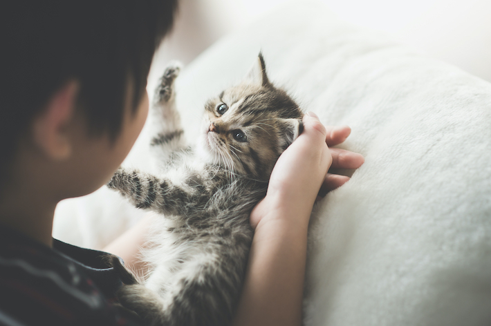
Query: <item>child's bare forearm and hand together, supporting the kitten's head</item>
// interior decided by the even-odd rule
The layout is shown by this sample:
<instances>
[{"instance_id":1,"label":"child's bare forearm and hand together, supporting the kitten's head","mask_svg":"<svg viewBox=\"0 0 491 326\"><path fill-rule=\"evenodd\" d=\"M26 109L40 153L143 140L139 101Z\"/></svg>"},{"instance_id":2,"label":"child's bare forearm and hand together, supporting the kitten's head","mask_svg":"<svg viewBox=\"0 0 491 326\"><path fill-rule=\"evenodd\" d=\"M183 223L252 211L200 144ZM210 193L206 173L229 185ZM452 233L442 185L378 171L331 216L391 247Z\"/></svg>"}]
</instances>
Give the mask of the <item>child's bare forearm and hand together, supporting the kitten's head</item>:
<instances>
[{"instance_id":1,"label":"child's bare forearm and hand together, supporting the kitten's head","mask_svg":"<svg viewBox=\"0 0 491 326\"><path fill-rule=\"evenodd\" d=\"M356 169L362 155L329 146L348 137L348 127L325 128L313 114L304 132L279 157L268 193L250 214L255 229L246 282L234 326L302 325L307 229L321 185L340 186L347 177L331 175L332 165Z\"/></svg>"}]
</instances>

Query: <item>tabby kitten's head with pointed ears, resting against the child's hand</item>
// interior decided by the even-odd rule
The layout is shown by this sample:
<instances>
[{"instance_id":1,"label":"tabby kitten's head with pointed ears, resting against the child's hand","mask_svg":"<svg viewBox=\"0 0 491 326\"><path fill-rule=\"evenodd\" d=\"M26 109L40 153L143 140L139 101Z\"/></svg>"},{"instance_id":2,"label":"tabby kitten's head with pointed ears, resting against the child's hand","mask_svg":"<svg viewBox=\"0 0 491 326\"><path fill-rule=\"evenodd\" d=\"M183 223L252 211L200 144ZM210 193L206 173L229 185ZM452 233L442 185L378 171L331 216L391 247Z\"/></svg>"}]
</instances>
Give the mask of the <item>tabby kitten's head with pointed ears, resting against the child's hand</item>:
<instances>
[{"instance_id":1,"label":"tabby kitten's head with pointed ears, resting against the child's hand","mask_svg":"<svg viewBox=\"0 0 491 326\"><path fill-rule=\"evenodd\" d=\"M205 104L200 147L207 160L268 180L279 155L303 130L303 113L266 75L261 54L248 77Z\"/></svg>"}]
</instances>

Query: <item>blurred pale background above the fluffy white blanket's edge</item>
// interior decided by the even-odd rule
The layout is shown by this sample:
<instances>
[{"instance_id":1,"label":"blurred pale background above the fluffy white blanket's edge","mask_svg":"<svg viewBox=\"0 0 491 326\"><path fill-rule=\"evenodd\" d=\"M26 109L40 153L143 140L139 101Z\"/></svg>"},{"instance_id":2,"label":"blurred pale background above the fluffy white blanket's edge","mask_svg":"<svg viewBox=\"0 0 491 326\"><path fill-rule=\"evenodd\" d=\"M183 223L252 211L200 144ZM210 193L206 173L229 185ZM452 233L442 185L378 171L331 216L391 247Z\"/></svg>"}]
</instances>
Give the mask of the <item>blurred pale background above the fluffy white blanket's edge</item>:
<instances>
[{"instance_id":1,"label":"blurred pale background above the fluffy white blanket's edge","mask_svg":"<svg viewBox=\"0 0 491 326\"><path fill-rule=\"evenodd\" d=\"M287 0L180 0L160 51L184 63ZM491 0L322 0L340 18L387 32L422 54L491 81Z\"/></svg>"}]
</instances>

